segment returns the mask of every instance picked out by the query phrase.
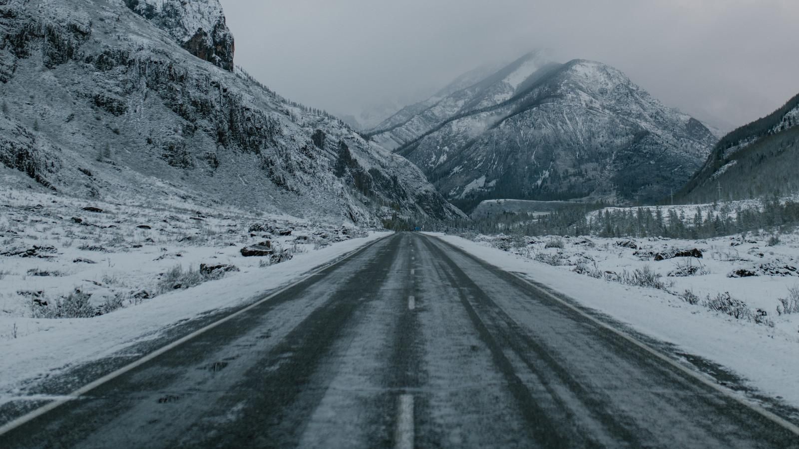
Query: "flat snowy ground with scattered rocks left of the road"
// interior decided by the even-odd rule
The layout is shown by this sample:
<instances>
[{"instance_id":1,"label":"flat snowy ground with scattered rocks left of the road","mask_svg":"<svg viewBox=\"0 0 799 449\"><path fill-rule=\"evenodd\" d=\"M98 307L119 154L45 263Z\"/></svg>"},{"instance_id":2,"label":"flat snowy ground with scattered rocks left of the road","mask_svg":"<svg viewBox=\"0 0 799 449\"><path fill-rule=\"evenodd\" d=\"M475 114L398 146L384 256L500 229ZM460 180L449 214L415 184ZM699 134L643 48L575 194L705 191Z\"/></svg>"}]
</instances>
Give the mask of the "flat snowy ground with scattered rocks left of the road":
<instances>
[{"instance_id":1,"label":"flat snowy ground with scattered rocks left of the road","mask_svg":"<svg viewBox=\"0 0 799 449\"><path fill-rule=\"evenodd\" d=\"M235 209L0 189L0 404L23 381L244 304L383 235ZM276 256L240 253L266 241ZM203 276L201 264L236 270ZM76 291L90 295L84 309L97 316L64 317Z\"/></svg>"}]
</instances>

